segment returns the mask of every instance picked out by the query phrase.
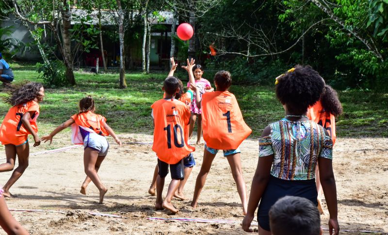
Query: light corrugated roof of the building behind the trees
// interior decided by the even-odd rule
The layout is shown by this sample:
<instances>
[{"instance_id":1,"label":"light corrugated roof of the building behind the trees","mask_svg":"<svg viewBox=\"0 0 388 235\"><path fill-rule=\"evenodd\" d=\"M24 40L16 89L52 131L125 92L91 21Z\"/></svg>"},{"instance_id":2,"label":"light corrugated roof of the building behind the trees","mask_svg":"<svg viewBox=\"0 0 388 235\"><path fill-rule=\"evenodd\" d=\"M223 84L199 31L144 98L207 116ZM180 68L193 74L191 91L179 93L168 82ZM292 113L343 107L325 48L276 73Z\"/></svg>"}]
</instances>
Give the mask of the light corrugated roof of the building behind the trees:
<instances>
[{"instance_id":1,"label":"light corrugated roof of the building behind the trees","mask_svg":"<svg viewBox=\"0 0 388 235\"><path fill-rule=\"evenodd\" d=\"M98 10L84 10L79 8L71 8L71 24L80 24L81 21L85 20L85 24L89 25L98 25ZM86 18L85 16L90 16ZM140 16L139 11L133 11L132 19L135 19ZM101 25L117 25L118 14L117 11L110 10L101 10ZM160 11L158 14L150 13L148 14L148 22L151 24L173 24L174 13L168 11ZM177 23L178 25L178 18Z\"/></svg>"}]
</instances>

